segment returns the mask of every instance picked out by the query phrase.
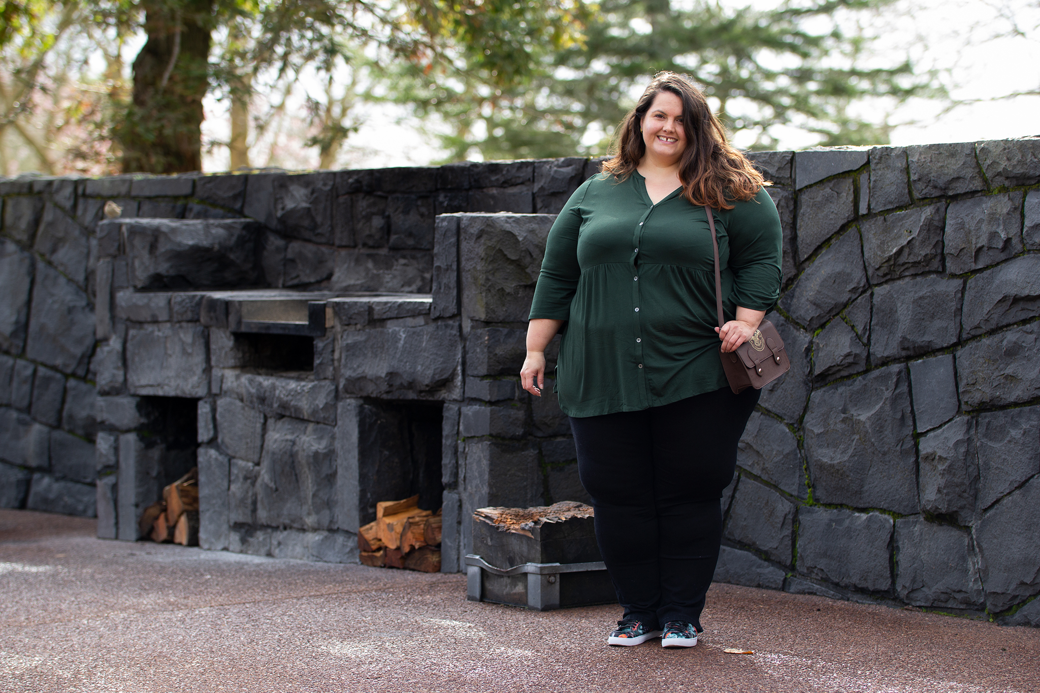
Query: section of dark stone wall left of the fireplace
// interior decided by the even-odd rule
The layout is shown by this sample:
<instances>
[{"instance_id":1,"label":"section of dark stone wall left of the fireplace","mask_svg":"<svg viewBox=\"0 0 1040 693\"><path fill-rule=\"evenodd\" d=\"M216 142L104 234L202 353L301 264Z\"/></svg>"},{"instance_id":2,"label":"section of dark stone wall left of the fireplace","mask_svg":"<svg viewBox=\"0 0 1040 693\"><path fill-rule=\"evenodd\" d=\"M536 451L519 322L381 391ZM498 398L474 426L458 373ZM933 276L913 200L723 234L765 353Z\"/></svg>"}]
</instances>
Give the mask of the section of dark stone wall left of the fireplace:
<instances>
[{"instance_id":1,"label":"section of dark stone wall left of the fireplace","mask_svg":"<svg viewBox=\"0 0 1040 693\"><path fill-rule=\"evenodd\" d=\"M95 514L97 241L81 185L0 181L0 507Z\"/></svg>"}]
</instances>

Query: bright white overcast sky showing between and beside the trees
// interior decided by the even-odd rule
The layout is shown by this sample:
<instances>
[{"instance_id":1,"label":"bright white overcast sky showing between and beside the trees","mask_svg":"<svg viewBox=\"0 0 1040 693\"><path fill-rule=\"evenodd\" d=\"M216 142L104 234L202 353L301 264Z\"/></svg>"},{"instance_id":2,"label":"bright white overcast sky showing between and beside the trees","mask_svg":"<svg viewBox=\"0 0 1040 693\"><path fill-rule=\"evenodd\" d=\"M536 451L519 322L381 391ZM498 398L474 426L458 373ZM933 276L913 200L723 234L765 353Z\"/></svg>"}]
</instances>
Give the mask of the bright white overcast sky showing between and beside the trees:
<instances>
[{"instance_id":1,"label":"bright white overcast sky showing between and beside the trees","mask_svg":"<svg viewBox=\"0 0 1040 693\"><path fill-rule=\"evenodd\" d=\"M724 3L748 4L747 0ZM777 3L751 0L751 4L763 7ZM1016 28L1020 31L1016 32ZM1040 96L1002 99L1017 91L1040 89L1038 0L896 0L890 9L872 20L869 29L881 36L876 44L879 59L909 51L921 70L938 71L954 99L969 102L948 112L942 112L946 104L935 101L906 104L888 114L889 123L905 124L892 131L892 144L1040 135ZM880 104L863 108L870 114L884 115ZM366 118L347 141L339 166L424 165L444 156L401 109L369 107ZM204 132L210 139L227 137L224 109L212 101L207 104ZM802 149L815 141L813 135L795 129L780 136L780 149ZM316 154L300 151L290 154L282 165L307 168L316 163ZM215 149L204 160L207 170L222 170L227 165L224 148Z\"/></svg>"}]
</instances>

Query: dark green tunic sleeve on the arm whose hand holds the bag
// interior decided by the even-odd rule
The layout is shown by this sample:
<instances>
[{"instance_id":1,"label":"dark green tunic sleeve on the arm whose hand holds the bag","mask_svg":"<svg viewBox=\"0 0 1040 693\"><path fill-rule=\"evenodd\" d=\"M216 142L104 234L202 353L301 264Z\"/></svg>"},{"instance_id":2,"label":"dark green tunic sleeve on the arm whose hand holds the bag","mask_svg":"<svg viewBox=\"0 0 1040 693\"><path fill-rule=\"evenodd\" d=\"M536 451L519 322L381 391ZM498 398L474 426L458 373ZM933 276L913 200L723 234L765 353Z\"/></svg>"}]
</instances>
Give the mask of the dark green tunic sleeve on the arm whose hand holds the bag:
<instances>
[{"instance_id":1,"label":"dark green tunic sleeve on the arm whose hand holds the bag","mask_svg":"<svg viewBox=\"0 0 1040 693\"><path fill-rule=\"evenodd\" d=\"M780 297L783 231L765 188L753 202L738 204L730 212L726 233L733 272L729 300L753 311L771 310Z\"/></svg>"}]
</instances>

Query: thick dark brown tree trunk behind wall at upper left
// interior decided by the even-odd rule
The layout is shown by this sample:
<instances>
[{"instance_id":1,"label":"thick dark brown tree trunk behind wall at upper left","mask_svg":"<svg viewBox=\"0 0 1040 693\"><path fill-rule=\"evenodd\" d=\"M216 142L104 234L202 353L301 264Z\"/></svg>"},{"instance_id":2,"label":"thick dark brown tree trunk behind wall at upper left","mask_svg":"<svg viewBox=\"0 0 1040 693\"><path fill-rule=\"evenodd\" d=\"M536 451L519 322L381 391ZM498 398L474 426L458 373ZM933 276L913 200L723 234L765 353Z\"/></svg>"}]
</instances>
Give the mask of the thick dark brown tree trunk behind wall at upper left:
<instances>
[{"instance_id":1,"label":"thick dark brown tree trunk behind wall at upper left","mask_svg":"<svg viewBox=\"0 0 1040 693\"><path fill-rule=\"evenodd\" d=\"M148 41L133 61L133 103L116 133L123 170L201 170L212 0L144 4Z\"/></svg>"}]
</instances>

